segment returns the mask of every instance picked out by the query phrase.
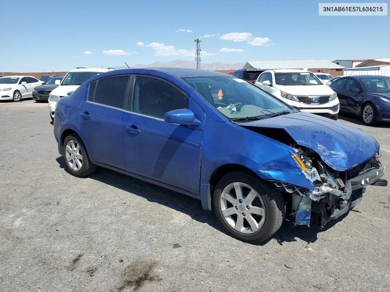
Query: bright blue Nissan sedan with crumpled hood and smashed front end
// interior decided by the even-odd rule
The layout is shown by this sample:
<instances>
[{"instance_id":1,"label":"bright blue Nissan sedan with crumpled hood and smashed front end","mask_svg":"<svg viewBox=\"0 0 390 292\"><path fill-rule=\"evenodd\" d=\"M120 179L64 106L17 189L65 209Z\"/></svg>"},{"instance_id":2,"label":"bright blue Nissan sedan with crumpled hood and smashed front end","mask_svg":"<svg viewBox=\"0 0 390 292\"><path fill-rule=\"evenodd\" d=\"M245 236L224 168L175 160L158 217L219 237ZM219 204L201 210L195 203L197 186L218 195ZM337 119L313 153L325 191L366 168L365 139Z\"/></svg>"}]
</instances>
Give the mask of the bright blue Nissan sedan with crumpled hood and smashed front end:
<instances>
[{"instance_id":1,"label":"bright blue Nissan sedan with crumpled hood and smashed front end","mask_svg":"<svg viewBox=\"0 0 390 292\"><path fill-rule=\"evenodd\" d=\"M74 176L101 166L197 198L248 242L285 218L325 225L387 185L370 135L213 71L99 74L58 101L54 135Z\"/></svg>"}]
</instances>

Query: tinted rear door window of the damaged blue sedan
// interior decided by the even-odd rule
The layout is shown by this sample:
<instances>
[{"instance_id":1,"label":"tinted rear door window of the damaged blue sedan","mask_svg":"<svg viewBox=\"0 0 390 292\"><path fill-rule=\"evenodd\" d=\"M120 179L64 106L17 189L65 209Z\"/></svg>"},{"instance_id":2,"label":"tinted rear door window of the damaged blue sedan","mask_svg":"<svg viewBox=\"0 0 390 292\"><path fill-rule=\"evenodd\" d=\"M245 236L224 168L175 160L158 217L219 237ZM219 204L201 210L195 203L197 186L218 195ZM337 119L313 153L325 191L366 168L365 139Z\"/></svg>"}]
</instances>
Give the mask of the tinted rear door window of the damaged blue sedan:
<instances>
[{"instance_id":1,"label":"tinted rear door window of the damaged blue sedan","mask_svg":"<svg viewBox=\"0 0 390 292\"><path fill-rule=\"evenodd\" d=\"M98 80L93 101L123 109L128 83L129 76L115 76Z\"/></svg>"}]
</instances>

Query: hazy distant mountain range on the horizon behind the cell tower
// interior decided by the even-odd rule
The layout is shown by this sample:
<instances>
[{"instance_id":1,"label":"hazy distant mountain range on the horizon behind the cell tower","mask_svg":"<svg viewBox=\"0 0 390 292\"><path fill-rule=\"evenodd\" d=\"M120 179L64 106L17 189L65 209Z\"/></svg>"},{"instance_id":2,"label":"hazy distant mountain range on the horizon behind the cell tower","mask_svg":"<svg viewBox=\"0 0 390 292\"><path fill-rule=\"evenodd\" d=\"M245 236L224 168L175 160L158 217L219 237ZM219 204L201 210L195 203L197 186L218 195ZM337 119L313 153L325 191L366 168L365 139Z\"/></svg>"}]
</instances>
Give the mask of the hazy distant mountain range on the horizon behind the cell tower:
<instances>
[{"instance_id":1,"label":"hazy distant mountain range on the horizon behind the cell tower","mask_svg":"<svg viewBox=\"0 0 390 292\"><path fill-rule=\"evenodd\" d=\"M242 69L245 63L236 63L236 64L227 64L227 63L201 63L201 69L204 70L232 70L232 69ZM193 68L196 69L196 62L185 61L185 60L176 60L169 62L154 62L151 64L138 64L134 66L129 66L130 68L143 68L143 67L180 67L180 68ZM127 66L118 66L114 67L115 69L127 69Z\"/></svg>"}]
</instances>

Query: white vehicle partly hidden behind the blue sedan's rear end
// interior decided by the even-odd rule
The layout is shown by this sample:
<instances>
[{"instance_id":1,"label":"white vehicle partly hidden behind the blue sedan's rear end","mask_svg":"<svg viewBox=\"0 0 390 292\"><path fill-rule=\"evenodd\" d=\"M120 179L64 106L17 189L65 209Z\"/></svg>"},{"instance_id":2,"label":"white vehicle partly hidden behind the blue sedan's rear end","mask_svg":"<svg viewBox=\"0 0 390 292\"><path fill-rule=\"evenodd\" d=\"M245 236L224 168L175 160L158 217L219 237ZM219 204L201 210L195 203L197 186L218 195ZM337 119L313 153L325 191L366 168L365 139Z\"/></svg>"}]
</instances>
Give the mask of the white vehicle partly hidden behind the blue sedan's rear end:
<instances>
[{"instance_id":1,"label":"white vehicle partly hidden behind the blue sedan's rear end","mask_svg":"<svg viewBox=\"0 0 390 292\"><path fill-rule=\"evenodd\" d=\"M84 81L96 76L97 74L114 70L112 68L77 68L70 70L65 77L60 80L56 80L55 84L58 85L49 95L49 112L51 120L54 120L55 105L58 99L67 95L68 92L76 90Z\"/></svg>"}]
</instances>

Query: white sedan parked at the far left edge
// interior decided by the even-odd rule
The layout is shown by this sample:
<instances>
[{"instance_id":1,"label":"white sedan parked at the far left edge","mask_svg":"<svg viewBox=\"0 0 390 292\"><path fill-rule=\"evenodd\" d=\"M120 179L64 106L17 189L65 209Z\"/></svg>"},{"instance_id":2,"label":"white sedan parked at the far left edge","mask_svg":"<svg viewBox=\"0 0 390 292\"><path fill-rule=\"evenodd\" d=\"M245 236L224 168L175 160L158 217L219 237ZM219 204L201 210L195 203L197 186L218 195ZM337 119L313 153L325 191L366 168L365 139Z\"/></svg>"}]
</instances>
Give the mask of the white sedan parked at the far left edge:
<instances>
[{"instance_id":1,"label":"white sedan parked at the far left edge","mask_svg":"<svg viewBox=\"0 0 390 292\"><path fill-rule=\"evenodd\" d=\"M30 98L35 86L43 83L32 76L0 77L0 100L21 101Z\"/></svg>"}]
</instances>

